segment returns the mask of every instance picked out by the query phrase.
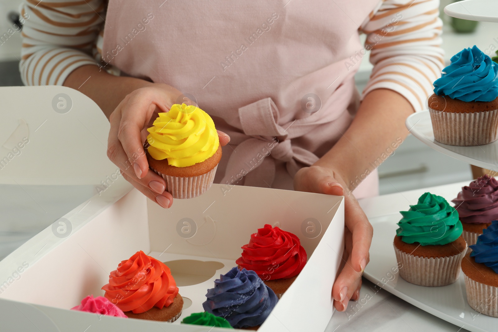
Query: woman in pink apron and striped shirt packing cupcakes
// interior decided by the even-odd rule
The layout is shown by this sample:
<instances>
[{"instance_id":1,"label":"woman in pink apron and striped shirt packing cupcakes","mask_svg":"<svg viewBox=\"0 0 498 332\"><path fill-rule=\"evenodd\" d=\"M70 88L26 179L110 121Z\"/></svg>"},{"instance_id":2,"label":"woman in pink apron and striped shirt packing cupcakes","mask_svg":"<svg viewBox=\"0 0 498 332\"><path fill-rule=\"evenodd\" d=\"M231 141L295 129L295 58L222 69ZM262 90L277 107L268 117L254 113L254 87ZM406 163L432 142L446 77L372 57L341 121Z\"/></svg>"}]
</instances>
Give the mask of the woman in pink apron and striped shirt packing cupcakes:
<instances>
[{"instance_id":1,"label":"woman in pink apron and striped shirt packing cupcakes","mask_svg":"<svg viewBox=\"0 0 498 332\"><path fill-rule=\"evenodd\" d=\"M377 194L375 167L405 138L405 118L423 109L443 66L438 6L26 0L20 71L26 85L92 98L111 122L109 158L164 208L172 197L142 143L157 112L185 101L222 131L216 182L345 195L345 264L332 289L344 311L359 298L372 239L357 198ZM354 75L368 50L374 68L360 99Z\"/></svg>"}]
</instances>

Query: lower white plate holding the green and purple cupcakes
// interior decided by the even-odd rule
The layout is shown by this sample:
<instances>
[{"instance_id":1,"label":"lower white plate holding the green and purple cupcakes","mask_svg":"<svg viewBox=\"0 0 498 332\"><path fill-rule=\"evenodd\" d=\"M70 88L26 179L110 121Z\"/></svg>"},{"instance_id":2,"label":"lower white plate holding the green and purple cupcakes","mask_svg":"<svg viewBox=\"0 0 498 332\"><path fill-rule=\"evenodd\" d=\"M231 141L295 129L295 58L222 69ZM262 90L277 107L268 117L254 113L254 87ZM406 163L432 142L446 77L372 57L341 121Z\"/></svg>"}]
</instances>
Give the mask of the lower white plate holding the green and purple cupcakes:
<instances>
[{"instance_id":1,"label":"lower white plate holding the green and purple cupcakes","mask_svg":"<svg viewBox=\"0 0 498 332\"><path fill-rule=\"evenodd\" d=\"M417 286L400 278L397 272L393 273L397 262L392 242L400 218L400 214L391 214L370 219L373 240L365 277L400 299L459 328L472 332L498 332L498 318L479 314L468 305L463 272L457 282L443 287Z\"/></svg>"}]
</instances>

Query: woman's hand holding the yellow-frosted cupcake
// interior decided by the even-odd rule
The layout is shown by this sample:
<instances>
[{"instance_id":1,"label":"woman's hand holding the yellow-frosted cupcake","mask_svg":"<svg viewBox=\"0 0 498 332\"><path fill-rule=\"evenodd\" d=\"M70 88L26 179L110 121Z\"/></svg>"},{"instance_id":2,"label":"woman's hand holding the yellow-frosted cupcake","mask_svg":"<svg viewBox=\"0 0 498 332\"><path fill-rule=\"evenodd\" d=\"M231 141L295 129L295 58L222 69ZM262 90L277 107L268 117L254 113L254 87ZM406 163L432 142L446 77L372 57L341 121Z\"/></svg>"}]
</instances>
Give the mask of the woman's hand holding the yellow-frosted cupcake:
<instances>
[{"instance_id":1,"label":"woman's hand holding the yellow-frosted cupcake","mask_svg":"<svg viewBox=\"0 0 498 332\"><path fill-rule=\"evenodd\" d=\"M109 159L121 169L126 181L166 209L171 207L173 197L165 191L165 180L149 171L143 143L148 134L146 129L157 113L169 111L180 96L178 90L168 85L150 83L126 95L109 117ZM227 134L221 131L218 134L221 146L230 141Z\"/></svg>"}]
</instances>

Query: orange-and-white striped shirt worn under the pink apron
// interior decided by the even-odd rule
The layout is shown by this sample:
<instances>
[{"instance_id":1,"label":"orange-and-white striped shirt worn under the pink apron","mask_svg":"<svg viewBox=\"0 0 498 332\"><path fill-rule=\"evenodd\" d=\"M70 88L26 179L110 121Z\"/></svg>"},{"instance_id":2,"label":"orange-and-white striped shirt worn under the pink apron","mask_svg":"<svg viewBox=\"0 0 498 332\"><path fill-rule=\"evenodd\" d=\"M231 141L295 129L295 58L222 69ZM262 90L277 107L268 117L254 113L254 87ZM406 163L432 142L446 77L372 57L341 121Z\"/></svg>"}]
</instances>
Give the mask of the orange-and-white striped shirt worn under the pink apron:
<instances>
[{"instance_id":1,"label":"orange-and-white striped shirt worn under the pink apron","mask_svg":"<svg viewBox=\"0 0 498 332\"><path fill-rule=\"evenodd\" d=\"M76 68L102 63L106 6L106 0L24 0L23 83L62 85ZM390 89L423 110L444 65L439 0L381 0L359 31L367 34L365 49L345 65L356 69L371 51L373 71L363 95Z\"/></svg>"}]
</instances>

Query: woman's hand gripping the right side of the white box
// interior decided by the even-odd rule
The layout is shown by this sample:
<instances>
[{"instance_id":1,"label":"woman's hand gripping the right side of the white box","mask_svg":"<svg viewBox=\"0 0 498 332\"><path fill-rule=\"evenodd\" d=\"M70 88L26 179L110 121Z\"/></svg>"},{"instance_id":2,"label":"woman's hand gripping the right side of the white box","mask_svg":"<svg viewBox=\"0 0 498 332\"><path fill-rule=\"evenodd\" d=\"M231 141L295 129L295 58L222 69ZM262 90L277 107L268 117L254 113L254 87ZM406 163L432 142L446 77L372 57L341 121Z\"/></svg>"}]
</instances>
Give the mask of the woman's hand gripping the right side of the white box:
<instances>
[{"instance_id":1,"label":"woman's hand gripping the right side of the white box","mask_svg":"<svg viewBox=\"0 0 498 332\"><path fill-rule=\"evenodd\" d=\"M370 261L369 249L373 235L372 225L347 188L337 172L322 166L301 168L294 177L295 190L344 196L344 267L332 287L334 306L339 311L346 310L349 300L358 300L360 297L362 274Z\"/></svg>"}]
</instances>

